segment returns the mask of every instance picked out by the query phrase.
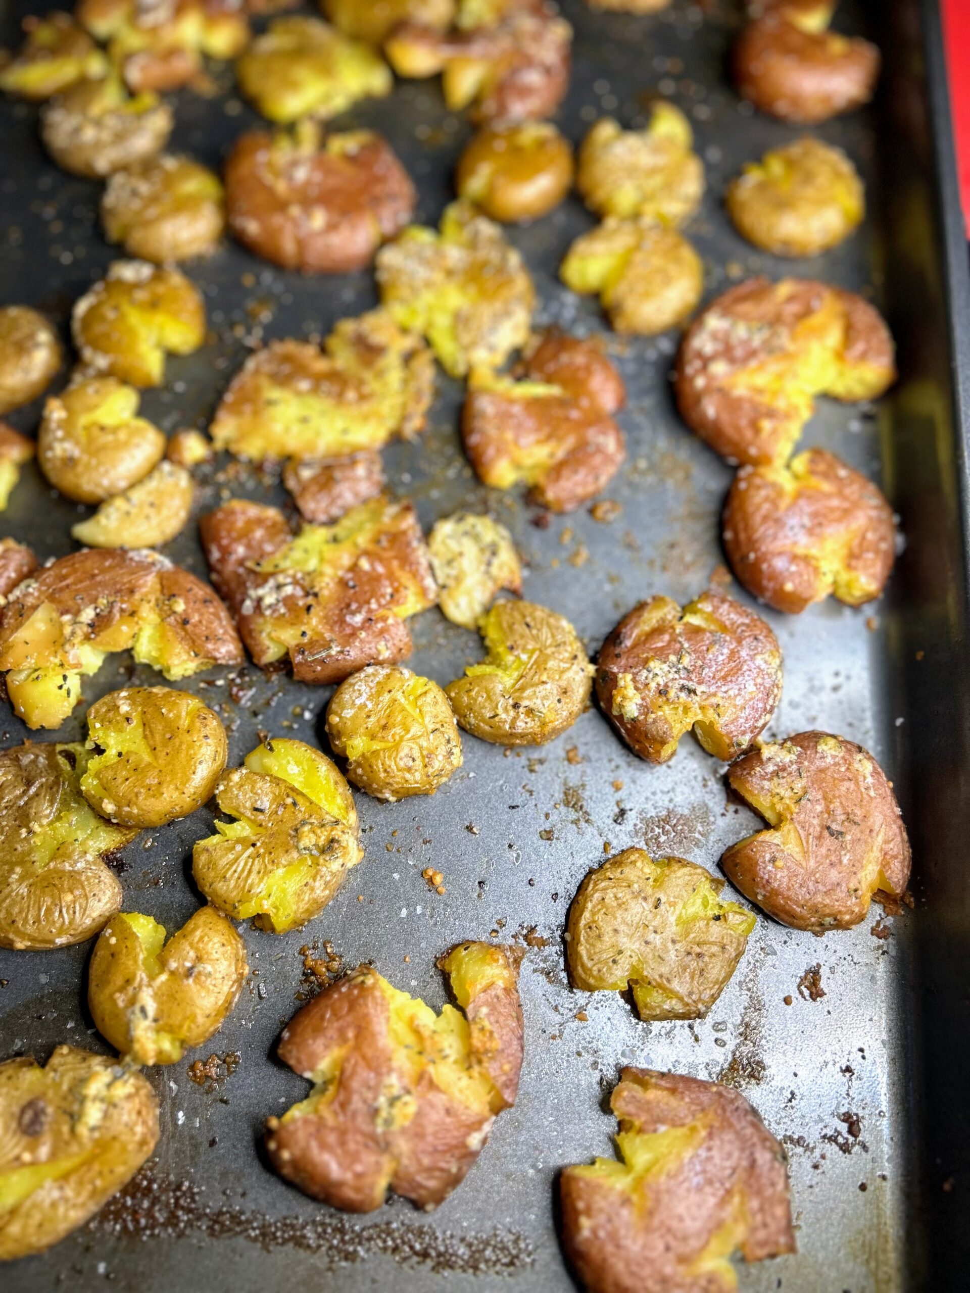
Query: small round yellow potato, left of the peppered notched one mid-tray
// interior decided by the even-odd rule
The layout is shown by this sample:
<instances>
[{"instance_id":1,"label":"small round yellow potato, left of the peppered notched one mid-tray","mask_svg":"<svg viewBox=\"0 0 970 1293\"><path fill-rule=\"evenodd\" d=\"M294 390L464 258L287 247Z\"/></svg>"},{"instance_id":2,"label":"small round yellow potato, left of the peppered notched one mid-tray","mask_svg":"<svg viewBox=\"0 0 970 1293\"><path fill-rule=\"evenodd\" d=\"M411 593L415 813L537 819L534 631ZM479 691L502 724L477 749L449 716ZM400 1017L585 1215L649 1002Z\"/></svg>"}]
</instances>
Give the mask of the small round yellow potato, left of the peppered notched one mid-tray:
<instances>
[{"instance_id":1,"label":"small round yellow potato, left of the peppered notched one mid-tray","mask_svg":"<svg viewBox=\"0 0 970 1293\"><path fill-rule=\"evenodd\" d=\"M433 795L462 767L447 697L401 665L344 679L327 706L327 736L349 780L375 799Z\"/></svg>"}]
</instances>

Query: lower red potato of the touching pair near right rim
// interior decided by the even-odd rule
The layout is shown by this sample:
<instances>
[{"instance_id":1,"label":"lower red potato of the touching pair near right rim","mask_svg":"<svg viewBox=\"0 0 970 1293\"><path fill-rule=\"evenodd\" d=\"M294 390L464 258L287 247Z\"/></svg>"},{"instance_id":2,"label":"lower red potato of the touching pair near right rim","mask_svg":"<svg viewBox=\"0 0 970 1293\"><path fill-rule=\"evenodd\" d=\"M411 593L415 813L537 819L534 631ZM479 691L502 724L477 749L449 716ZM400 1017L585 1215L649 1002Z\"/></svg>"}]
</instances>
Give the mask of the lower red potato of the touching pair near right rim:
<instances>
[{"instance_id":1,"label":"lower red potato of the touching pair near right rim","mask_svg":"<svg viewBox=\"0 0 970 1293\"><path fill-rule=\"evenodd\" d=\"M793 615L829 595L850 606L872 601L896 556L896 525L882 491L821 449L788 467L742 467L722 534L745 588Z\"/></svg>"}]
</instances>

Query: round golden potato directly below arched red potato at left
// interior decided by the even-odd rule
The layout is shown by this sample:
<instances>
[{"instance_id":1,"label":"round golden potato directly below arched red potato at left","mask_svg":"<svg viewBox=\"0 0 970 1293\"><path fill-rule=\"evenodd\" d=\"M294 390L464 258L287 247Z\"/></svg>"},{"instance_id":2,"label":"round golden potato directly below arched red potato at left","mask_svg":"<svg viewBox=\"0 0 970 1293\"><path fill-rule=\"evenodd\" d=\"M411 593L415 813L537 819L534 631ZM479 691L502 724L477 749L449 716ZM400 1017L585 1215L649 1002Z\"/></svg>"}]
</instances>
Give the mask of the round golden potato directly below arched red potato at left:
<instances>
[{"instance_id":1,"label":"round golden potato directly below arched red potato at left","mask_svg":"<svg viewBox=\"0 0 970 1293\"><path fill-rule=\"evenodd\" d=\"M228 747L221 719L197 696L125 687L88 710L87 749L94 753L80 787L91 807L118 825L147 828L211 799Z\"/></svg>"}]
</instances>

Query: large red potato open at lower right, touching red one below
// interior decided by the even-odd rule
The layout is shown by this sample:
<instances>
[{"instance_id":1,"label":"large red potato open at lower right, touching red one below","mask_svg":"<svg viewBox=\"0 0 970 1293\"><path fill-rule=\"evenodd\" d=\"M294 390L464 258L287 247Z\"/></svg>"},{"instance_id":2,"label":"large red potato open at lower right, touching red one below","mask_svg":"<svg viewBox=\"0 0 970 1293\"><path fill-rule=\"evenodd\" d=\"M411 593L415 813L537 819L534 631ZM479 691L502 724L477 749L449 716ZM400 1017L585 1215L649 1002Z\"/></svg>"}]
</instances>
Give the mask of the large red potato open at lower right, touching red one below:
<instances>
[{"instance_id":1,"label":"large red potato open at lower right, touching red one below","mask_svg":"<svg viewBox=\"0 0 970 1293\"><path fill-rule=\"evenodd\" d=\"M892 337L855 292L807 278L751 278L711 301L680 347L674 389L687 425L729 463L784 463L815 397L874 400L895 380Z\"/></svg>"}]
</instances>

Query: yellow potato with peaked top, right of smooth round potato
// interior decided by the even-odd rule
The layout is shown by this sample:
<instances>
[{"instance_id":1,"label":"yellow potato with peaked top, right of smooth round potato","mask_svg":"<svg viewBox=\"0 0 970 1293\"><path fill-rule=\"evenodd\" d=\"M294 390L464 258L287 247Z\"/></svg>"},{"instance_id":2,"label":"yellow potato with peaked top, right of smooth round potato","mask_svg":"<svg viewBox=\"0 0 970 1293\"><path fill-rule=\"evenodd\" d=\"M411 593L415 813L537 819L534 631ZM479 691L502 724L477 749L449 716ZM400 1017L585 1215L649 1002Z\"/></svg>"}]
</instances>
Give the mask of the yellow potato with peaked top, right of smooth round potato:
<instances>
[{"instance_id":1,"label":"yellow potato with peaked top, right of smooth round potato","mask_svg":"<svg viewBox=\"0 0 970 1293\"><path fill-rule=\"evenodd\" d=\"M663 100L640 131L603 116L579 149L576 186L598 216L641 216L676 228L704 197L704 163L692 149L691 123Z\"/></svg>"}]
</instances>

